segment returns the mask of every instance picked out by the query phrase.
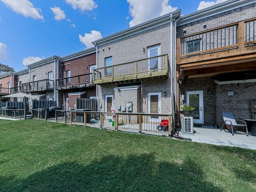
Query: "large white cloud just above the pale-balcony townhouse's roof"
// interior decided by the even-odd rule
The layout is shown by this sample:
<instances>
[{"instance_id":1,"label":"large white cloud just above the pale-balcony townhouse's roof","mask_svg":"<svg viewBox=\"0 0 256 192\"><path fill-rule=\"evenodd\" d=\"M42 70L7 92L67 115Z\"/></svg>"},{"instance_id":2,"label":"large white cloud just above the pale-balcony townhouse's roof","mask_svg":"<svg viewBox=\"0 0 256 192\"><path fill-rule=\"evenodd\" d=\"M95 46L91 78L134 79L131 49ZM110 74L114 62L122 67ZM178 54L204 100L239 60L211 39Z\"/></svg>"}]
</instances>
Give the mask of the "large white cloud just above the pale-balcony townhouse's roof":
<instances>
[{"instance_id":1,"label":"large white cloud just above the pale-balcony townhouse's roof","mask_svg":"<svg viewBox=\"0 0 256 192\"><path fill-rule=\"evenodd\" d=\"M129 14L132 16L130 27L146 22L150 19L177 10L170 6L170 0L127 0Z\"/></svg>"}]
</instances>

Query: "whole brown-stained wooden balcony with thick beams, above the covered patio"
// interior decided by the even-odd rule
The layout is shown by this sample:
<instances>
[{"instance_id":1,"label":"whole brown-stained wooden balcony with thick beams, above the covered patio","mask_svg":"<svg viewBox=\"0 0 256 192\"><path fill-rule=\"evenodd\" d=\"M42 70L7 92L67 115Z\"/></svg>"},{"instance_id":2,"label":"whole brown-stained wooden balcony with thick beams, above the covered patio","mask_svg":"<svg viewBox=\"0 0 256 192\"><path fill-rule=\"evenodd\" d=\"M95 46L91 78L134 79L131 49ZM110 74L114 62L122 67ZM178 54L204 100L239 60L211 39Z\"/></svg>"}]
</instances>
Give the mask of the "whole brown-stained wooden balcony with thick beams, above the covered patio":
<instances>
[{"instance_id":1,"label":"whole brown-stained wooden balcony with thick beams, above the covered patio","mask_svg":"<svg viewBox=\"0 0 256 192\"><path fill-rule=\"evenodd\" d=\"M256 18L177 39L178 76L255 70Z\"/></svg>"}]
</instances>

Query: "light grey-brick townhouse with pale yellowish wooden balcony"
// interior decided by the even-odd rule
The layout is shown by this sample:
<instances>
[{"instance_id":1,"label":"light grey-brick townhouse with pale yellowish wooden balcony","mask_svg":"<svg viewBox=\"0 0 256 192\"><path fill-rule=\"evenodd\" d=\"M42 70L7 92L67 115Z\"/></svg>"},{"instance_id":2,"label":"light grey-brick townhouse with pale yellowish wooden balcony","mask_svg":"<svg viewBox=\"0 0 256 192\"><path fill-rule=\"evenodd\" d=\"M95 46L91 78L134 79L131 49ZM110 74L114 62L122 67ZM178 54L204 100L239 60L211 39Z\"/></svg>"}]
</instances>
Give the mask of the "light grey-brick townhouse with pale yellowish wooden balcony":
<instances>
[{"instance_id":1,"label":"light grey-brick townhouse with pale yellowish wooden balcony","mask_svg":"<svg viewBox=\"0 0 256 192\"><path fill-rule=\"evenodd\" d=\"M179 17L177 10L92 42L97 50L93 82L101 111L110 112L114 106L116 112L172 113Z\"/></svg>"}]
</instances>

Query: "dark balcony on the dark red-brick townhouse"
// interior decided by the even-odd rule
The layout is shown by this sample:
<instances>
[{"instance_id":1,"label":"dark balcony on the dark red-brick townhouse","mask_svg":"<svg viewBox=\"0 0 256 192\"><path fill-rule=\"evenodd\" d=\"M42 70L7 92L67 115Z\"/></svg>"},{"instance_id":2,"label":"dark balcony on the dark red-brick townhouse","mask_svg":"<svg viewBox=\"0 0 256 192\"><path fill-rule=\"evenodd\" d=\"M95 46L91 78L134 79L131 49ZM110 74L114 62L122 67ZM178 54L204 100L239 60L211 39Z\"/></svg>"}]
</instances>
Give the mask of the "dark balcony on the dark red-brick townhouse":
<instances>
[{"instance_id":1,"label":"dark balcony on the dark red-brick townhouse","mask_svg":"<svg viewBox=\"0 0 256 192\"><path fill-rule=\"evenodd\" d=\"M85 87L94 87L92 84L92 73L66 77L56 80L57 90L76 89Z\"/></svg>"}]
</instances>

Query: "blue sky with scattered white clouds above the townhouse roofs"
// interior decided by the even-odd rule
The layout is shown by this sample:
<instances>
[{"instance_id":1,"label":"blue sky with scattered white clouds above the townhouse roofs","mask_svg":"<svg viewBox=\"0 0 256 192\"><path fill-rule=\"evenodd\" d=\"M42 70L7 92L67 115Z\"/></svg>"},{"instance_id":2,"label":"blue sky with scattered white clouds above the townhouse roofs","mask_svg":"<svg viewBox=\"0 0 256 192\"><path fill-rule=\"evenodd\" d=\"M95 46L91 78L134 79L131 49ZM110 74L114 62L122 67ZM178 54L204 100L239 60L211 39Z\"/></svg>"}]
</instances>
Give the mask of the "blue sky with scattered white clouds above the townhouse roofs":
<instances>
[{"instance_id":1,"label":"blue sky with scattered white clouds above the townhouse roofs","mask_svg":"<svg viewBox=\"0 0 256 192\"><path fill-rule=\"evenodd\" d=\"M26 64L84 50L97 38L161 14L176 9L189 14L226 0L201 1L0 0L0 63L23 70Z\"/></svg>"}]
</instances>

